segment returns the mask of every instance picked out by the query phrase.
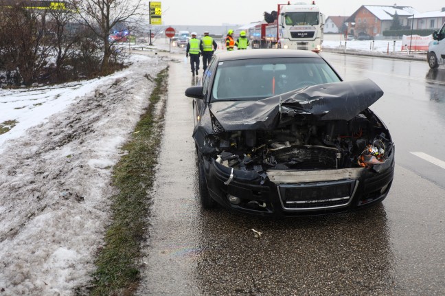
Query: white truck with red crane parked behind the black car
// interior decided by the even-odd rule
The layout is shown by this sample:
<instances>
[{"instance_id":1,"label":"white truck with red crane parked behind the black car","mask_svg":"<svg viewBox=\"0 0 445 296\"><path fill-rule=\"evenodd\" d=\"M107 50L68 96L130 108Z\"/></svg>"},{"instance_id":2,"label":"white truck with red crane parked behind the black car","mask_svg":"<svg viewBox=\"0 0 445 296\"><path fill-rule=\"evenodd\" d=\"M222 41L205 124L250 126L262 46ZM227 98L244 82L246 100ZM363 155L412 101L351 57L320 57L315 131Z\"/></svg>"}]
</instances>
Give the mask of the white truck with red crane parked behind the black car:
<instances>
[{"instance_id":1,"label":"white truck with red crane parked behind the black car","mask_svg":"<svg viewBox=\"0 0 445 296\"><path fill-rule=\"evenodd\" d=\"M321 51L324 15L312 4L278 4L277 11L264 12L264 21L249 28L252 48Z\"/></svg>"}]
</instances>

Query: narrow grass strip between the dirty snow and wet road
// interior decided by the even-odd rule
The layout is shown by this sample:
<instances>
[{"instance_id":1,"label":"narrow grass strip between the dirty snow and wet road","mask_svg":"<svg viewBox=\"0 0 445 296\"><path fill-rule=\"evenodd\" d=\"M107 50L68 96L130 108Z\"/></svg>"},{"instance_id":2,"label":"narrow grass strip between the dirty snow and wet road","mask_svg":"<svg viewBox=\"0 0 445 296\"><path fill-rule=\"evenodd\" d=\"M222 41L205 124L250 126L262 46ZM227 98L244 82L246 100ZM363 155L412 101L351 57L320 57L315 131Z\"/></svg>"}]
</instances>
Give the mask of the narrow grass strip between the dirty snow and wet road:
<instances>
[{"instance_id":1,"label":"narrow grass strip between the dirty snow and wet road","mask_svg":"<svg viewBox=\"0 0 445 296\"><path fill-rule=\"evenodd\" d=\"M155 179L165 111L161 108L157 114L157 103L167 93L168 68L159 72L155 83L146 112L141 115L132 139L122 147L128 154L113 169L113 185L119 194L112 197L113 221L96 261L98 269L93 274L91 295L133 295L139 284L137 262L148 228L148 190Z\"/></svg>"}]
</instances>

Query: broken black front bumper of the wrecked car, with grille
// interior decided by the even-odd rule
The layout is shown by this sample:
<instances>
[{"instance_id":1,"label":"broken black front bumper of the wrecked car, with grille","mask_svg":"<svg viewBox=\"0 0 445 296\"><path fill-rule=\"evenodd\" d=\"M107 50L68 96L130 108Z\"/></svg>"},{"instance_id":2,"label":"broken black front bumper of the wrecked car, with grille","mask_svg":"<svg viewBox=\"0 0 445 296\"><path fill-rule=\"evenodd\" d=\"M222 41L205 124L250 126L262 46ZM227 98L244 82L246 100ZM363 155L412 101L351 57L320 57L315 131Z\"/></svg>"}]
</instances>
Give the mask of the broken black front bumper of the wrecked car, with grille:
<instances>
[{"instance_id":1,"label":"broken black front bumper of the wrecked car, with grille","mask_svg":"<svg viewBox=\"0 0 445 296\"><path fill-rule=\"evenodd\" d=\"M394 163L385 170L233 170L203 157L209 194L220 205L261 216L314 216L350 212L382 201Z\"/></svg>"}]
</instances>

